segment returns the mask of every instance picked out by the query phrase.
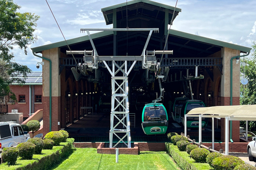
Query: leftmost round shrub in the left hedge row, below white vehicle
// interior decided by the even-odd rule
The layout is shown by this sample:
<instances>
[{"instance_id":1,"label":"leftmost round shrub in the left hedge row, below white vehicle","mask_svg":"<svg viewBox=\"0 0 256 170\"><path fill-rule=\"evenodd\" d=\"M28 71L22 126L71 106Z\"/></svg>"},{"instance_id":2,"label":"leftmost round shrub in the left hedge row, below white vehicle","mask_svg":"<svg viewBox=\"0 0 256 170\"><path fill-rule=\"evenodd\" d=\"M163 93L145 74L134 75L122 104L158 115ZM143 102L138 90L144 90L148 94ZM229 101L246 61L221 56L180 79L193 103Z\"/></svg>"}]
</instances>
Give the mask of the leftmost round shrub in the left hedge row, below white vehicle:
<instances>
[{"instance_id":1,"label":"leftmost round shrub in the left hedge row, below white vehicle","mask_svg":"<svg viewBox=\"0 0 256 170\"><path fill-rule=\"evenodd\" d=\"M2 151L2 159L7 162L8 165L15 165L18 158L17 148L4 148Z\"/></svg>"}]
</instances>

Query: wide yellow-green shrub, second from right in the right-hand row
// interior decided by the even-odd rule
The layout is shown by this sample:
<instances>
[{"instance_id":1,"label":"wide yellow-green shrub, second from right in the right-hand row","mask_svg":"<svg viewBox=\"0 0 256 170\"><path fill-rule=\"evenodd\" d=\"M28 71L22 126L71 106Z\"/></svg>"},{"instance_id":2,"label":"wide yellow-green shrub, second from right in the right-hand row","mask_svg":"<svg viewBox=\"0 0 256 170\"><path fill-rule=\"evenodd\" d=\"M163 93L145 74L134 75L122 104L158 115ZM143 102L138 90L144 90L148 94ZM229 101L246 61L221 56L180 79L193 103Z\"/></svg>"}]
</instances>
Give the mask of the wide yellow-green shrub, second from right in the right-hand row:
<instances>
[{"instance_id":1,"label":"wide yellow-green shrub, second from right in the right-hand row","mask_svg":"<svg viewBox=\"0 0 256 170\"><path fill-rule=\"evenodd\" d=\"M231 155L219 156L212 160L212 167L219 170L231 170L237 165L244 165L244 161L238 157Z\"/></svg>"}]
</instances>

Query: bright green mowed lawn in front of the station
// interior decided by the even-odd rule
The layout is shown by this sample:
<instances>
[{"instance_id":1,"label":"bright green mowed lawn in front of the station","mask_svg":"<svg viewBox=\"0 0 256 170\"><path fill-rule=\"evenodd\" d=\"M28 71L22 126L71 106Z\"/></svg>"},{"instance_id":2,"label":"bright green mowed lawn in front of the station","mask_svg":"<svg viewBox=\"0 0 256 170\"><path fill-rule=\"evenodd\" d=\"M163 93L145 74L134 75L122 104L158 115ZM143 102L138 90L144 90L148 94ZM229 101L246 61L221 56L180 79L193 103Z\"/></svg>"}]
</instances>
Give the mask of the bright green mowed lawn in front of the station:
<instances>
[{"instance_id":1,"label":"bright green mowed lawn in front of the station","mask_svg":"<svg viewBox=\"0 0 256 170\"><path fill-rule=\"evenodd\" d=\"M72 155L52 169L179 169L166 152L141 152L140 155L97 154L95 148L76 148Z\"/></svg>"}]
</instances>

